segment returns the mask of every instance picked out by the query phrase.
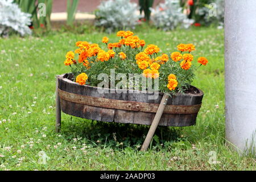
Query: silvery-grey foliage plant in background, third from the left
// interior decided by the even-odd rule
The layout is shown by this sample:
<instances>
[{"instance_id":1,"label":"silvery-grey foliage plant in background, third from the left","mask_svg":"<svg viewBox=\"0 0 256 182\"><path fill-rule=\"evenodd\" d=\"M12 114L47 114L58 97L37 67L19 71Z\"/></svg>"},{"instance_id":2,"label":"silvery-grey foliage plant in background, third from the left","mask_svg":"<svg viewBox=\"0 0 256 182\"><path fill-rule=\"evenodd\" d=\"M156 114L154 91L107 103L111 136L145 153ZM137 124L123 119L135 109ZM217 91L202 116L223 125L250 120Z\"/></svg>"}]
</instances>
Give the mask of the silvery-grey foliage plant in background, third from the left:
<instances>
[{"instance_id":1,"label":"silvery-grey foliage plant in background, third from the left","mask_svg":"<svg viewBox=\"0 0 256 182\"><path fill-rule=\"evenodd\" d=\"M151 19L156 27L164 31L174 30L177 26L188 28L194 22L182 13L179 0L166 0L160 3L156 9L152 9Z\"/></svg>"}]
</instances>

